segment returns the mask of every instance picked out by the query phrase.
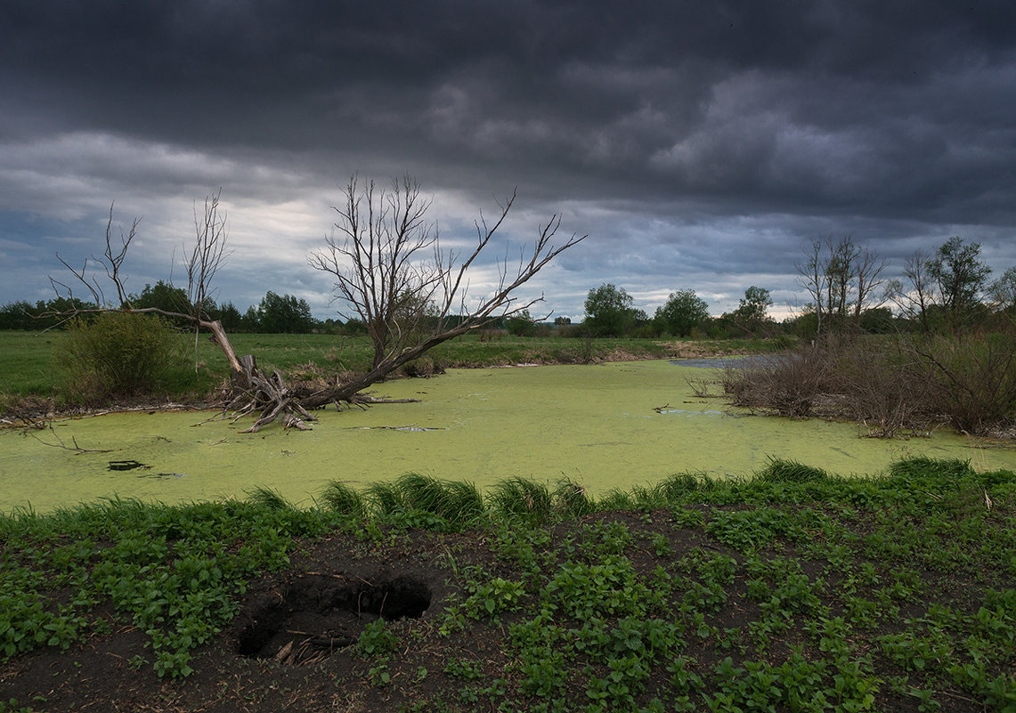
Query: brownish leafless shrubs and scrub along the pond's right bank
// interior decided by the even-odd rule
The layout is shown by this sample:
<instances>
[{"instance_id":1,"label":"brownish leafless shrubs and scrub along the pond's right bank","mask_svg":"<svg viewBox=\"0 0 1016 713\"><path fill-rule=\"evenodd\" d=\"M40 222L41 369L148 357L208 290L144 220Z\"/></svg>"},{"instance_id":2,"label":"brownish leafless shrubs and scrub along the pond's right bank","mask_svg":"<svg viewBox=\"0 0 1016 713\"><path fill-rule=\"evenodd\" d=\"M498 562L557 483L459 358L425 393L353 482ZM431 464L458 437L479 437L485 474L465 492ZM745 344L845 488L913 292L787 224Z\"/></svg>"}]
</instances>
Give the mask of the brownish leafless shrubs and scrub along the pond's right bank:
<instances>
[{"instance_id":1,"label":"brownish leafless shrubs and scrub along the pond's right bank","mask_svg":"<svg viewBox=\"0 0 1016 713\"><path fill-rule=\"evenodd\" d=\"M871 436L975 436L1016 427L1016 332L827 338L759 369L727 369L736 405L779 415L849 418Z\"/></svg>"}]
</instances>

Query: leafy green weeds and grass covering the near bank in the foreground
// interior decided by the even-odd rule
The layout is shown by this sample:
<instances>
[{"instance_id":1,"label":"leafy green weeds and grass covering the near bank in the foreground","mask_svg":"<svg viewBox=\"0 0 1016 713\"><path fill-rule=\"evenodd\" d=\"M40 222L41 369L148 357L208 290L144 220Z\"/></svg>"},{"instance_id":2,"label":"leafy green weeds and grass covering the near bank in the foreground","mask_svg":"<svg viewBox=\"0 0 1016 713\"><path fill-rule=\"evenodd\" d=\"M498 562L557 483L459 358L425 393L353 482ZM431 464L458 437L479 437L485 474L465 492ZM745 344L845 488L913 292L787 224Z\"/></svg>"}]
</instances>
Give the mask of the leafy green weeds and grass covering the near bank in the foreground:
<instances>
[{"instance_id":1,"label":"leafy green weeds and grass covering the near bank in the foreground","mask_svg":"<svg viewBox=\"0 0 1016 713\"><path fill-rule=\"evenodd\" d=\"M20 511L0 710L1011 711L1014 537L1016 474L928 459Z\"/></svg>"}]
</instances>

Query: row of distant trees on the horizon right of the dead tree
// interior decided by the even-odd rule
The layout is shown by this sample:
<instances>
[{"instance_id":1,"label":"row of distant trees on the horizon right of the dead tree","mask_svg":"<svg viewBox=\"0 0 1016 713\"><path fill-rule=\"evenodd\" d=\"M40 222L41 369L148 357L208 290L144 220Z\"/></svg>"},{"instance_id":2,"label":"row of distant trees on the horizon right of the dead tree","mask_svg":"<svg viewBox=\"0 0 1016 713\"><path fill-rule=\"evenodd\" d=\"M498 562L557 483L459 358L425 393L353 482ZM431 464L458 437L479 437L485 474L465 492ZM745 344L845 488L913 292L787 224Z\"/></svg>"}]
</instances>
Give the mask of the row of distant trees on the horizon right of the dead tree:
<instances>
[{"instance_id":1,"label":"row of distant trees on the horizon right of the dead tree","mask_svg":"<svg viewBox=\"0 0 1016 713\"><path fill-rule=\"evenodd\" d=\"M636 309L624 287L590 289L580 330L593 336L712 338L795 334L957 332L1011 324L1016 317L1016 266L990 281L980 245L953 237L934 252L907 258L899 277L885 276L886 260L852 237L816 240L795 266L809 301L776 322L770 291L752 285L738 308L718 317L694 289L678 289L653 316Z\"/></svg>"}]
</instances>

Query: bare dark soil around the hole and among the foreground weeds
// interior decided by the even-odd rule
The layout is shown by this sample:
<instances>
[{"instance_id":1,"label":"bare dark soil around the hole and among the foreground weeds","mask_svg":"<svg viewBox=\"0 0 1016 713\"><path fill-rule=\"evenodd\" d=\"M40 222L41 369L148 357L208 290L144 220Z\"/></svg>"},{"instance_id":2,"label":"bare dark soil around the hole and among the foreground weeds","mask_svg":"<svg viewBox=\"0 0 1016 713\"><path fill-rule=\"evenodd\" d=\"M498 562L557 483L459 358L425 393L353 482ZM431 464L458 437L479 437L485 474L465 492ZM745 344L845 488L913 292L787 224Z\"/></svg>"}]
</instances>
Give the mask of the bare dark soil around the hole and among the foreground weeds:
<instances>
[{"instance_id":1,"label":"bare dark soil around the hole and among the foreground weeds","mask_svg":"<svg viewBox=\"0 0 1016 713\"><path fill-rule=\"evenodd\" d=\"M626 556L646 578L661 563L665 566L693 549L728 555L739 562L743 559L701 528L676 526L668 511L599 513L581 522L623 523L634 536ZM549 552L574 533L576 524L550 530ZM660 535L670 545L664 557L647 544ZM148 637L121 626L66 653L43 649L0 664L0 710L5 710L3 702L10 699L16 699L18 706L54 713L495 710L497 703L487 699L460 702L457 694L463 680L450 675L447 667L453 660L478 662L479 683L484 685L498 676L517 676L511 673L512 658L505 643L513 618L517 621L521 614L468 620L450 636L439 631L445 606L462 593L458 582L463 580L463 571L482 566L487 577L524 578L514 562L495 554L492 537L484 531L409 531L387 533L380 542L344 533L305 542L285 572L251 583L233 625L195 652L190 676L160 678L150 663L142 662L151 654ZM777 545L773 554L779 553L788 550ZM823 575L824 564L802 561L811 577L829 577L828 572ZM739 570L726 604L709 620L712 626L747 632L748 625L759 618L758 604L745 595L746 579ZM382 666L387 680L380 678L376 668L379 659L355 646L364 627L379 617L398 636L397 648ZM689 639L684 655L703 673L732 655L732 650L719 649L716 639ZM791 630L774 641L763 658L776 663L797 647L804 647L806 655L822 656L809 652L805 635ZM736 648L733 655L737 660ZM878 672L899 671L883 668ZM665 690L666 677L660 666L649 689ZM578 702L578 709L584 689L568 693ZM947 692L940 700L942 710L983 710L962 692L952 697ZM699 703L704 709L702 698ZM876 710L917 708L915 701L885 691Z\"/></svg>"}]
</instances>

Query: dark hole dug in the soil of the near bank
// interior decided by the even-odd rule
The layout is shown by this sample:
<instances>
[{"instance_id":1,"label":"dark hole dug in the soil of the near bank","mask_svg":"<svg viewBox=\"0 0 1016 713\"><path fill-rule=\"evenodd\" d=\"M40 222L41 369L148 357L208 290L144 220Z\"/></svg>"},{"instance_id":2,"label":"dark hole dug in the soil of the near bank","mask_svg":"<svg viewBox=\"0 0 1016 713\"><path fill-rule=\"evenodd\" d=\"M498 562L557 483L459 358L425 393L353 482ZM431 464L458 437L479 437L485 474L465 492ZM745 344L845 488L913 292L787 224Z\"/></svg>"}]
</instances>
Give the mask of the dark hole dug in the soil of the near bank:
<instances>
[{"instance_id":1,"label":"dark hole dug in the soil of the near bank","mask_svg":"<svg viewBox=\"0 0 1016 713\"><path fill-rule=\"evenodd\" d=\"M357 643L364 627L419 619L431 605L430 586L407 575L368 581L344 575L307 575L279 594L248 604L235 629L242 656L312 663Z\"/></svg>"}]
</instances>

